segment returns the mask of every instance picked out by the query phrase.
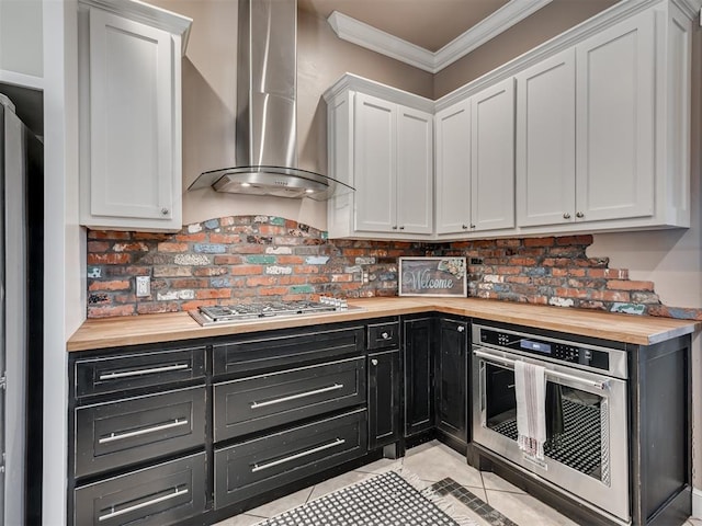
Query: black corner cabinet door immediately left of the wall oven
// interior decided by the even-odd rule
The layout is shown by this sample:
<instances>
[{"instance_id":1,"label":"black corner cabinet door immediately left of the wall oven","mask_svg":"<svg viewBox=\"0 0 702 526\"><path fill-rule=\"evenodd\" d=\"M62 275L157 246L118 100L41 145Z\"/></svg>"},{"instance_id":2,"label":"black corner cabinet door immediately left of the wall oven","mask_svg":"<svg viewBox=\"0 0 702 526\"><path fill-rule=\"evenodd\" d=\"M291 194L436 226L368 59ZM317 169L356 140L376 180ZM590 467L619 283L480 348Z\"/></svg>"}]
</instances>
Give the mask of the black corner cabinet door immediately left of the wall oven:
<instances>
[{"instance_id":1,"label":"black corner cabinet door immediately left of the wall oven","mask_svg":"<svg viewBox=\"0 0 702 526\"><path fill-rule=\"evenodd\" d=\"M440 318L435 352L437 430L468 442L468 322Z\"/></svg>"}]
</instances>

